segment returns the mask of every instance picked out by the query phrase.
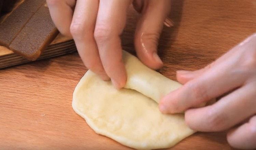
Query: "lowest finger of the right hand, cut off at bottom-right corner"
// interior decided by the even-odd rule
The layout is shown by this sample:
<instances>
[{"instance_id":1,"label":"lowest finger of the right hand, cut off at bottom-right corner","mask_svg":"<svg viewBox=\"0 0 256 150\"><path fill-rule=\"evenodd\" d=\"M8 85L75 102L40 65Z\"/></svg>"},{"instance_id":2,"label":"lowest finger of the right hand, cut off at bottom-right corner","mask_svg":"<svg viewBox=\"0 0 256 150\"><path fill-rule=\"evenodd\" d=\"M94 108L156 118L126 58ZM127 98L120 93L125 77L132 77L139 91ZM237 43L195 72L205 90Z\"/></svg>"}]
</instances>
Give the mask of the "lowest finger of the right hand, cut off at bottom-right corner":
<instances>
[{"instance_id":1,"label":"lowest finger of the right hand, cut off at bottom-right corner","mask_svg":"<svg viewBox=\"0 0 256 150\"><path fill-rule=\"evenodd\" d=\"M256 116L227 134L228 143L238 149L256 148Z\"/></svg>"}]
</instances>

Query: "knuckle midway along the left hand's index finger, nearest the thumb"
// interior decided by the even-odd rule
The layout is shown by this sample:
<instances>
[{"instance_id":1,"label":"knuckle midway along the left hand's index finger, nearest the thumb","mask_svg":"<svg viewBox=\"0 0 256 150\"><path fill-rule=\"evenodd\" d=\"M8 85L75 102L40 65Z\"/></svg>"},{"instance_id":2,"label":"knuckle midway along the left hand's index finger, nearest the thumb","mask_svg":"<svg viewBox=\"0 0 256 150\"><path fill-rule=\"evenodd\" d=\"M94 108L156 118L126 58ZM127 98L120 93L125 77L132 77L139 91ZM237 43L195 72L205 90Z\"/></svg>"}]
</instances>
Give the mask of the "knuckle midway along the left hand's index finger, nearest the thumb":
<instances>
[{"instance_id":1,"label":"knuckle midway along the left hand's index finger, nearest the thumb","mask_svg":"<svg viewBox=\"0 0 256 150\"><path fill-rule=\"evenodd\" d=\"M94 30L94 38L96 41L107 41L111 38L113 33L111 32L111 28L105 24L97 25Z\"/></svg>"}]
</instances>

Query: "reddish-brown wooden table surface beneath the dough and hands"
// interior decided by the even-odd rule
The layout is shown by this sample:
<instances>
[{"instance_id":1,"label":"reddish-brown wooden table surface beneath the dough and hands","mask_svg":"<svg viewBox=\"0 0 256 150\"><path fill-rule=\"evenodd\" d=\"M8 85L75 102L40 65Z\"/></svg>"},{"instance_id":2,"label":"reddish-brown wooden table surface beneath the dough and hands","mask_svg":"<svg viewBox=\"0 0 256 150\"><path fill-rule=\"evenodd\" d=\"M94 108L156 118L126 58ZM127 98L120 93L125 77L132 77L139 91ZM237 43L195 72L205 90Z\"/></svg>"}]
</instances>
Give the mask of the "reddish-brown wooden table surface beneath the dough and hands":
<instances>
[{"instance_id":1,"label":"reddish-brown wooden table surface beneath the dough and hands","mask_svg":"<svg viewBox=\"0 0 256 150\"><path fill-rule=\"evenodd\" d=\"M129 13L122 35L132 51L134 21ZM256 0L173 0L159 54L160 72L204 67L256 32ZM97 135L71 107L72 93L86 72L79 55L30 62L0 70L0 149L129 149ZM196 133L173 149L232 149L225 132Z\"/></svg>"}]
</instances>

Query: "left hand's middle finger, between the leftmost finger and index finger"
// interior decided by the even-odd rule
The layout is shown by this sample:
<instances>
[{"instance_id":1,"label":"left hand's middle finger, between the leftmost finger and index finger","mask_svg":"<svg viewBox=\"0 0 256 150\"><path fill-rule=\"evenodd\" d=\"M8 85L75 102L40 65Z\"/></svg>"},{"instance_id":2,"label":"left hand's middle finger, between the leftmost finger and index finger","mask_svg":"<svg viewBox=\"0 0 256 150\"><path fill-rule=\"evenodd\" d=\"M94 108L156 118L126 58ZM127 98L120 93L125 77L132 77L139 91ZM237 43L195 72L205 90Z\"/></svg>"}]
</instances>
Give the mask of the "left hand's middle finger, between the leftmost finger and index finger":
<instances>
[{"instance_id":1,"label":"left hand's middle finger, between the leftmost finger and index finger","mask_svg":"<svg viewBox=\"0 0 256 150\"><path fill-rule=\"evenodd\" d=\"M77 0L70 31L85 66L108 80L94 39L99 0Z\"/></svg>"}]
</instances>

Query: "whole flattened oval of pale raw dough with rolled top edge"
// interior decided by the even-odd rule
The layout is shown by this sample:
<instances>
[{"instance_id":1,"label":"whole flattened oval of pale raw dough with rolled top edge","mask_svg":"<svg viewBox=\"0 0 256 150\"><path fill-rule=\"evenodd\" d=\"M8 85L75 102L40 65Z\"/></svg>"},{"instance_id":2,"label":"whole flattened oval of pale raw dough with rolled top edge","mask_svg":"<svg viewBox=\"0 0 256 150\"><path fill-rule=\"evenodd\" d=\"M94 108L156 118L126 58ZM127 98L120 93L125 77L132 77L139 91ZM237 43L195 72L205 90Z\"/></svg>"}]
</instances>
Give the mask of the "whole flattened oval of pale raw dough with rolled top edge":
<instances>
[{"instance_id":1,"label":"whole flattened oval of pale raw dough with rolled top edge","mask_svg":"<svg viewBox=\"0 0 256 150\"><path fill-rule=\"evenodd\" d=\"M156 103L181 85L149 69L128 52L123 52L123 60L128 74L125 88L129 89L116 90L110 81L89 70L74 90L75 112L96 133L136 149L172 147L193 134L183 114L163 115Z\"/></svg>"}]
</instances>

